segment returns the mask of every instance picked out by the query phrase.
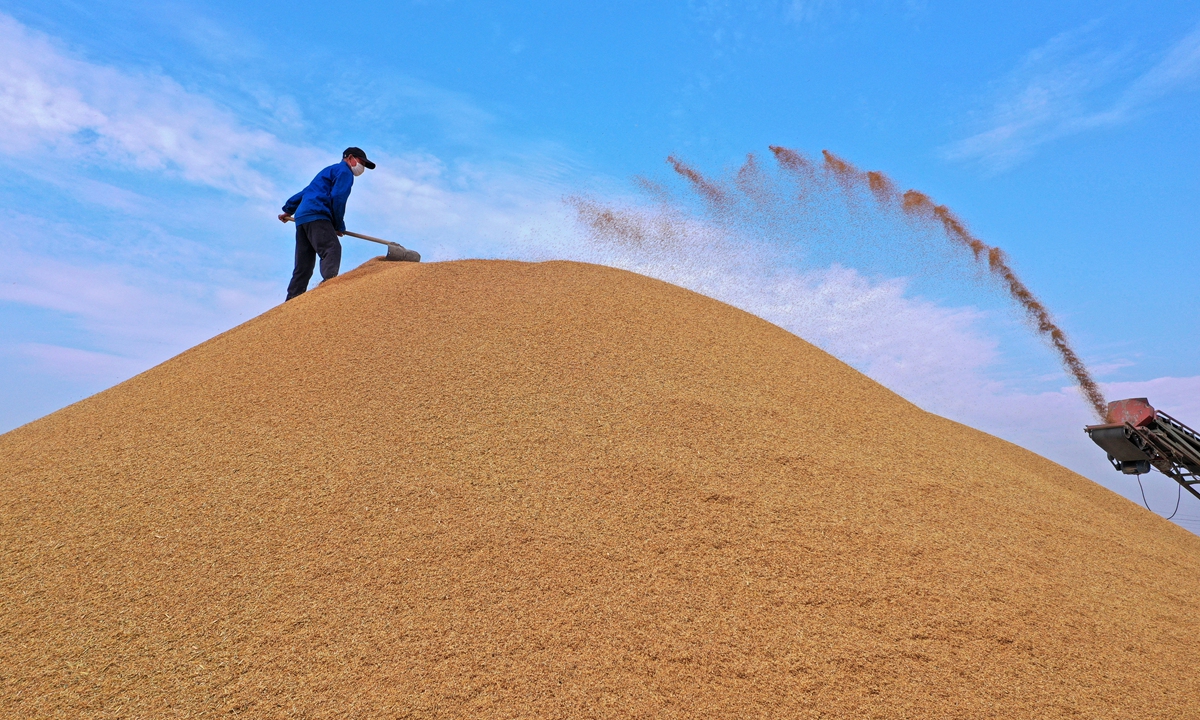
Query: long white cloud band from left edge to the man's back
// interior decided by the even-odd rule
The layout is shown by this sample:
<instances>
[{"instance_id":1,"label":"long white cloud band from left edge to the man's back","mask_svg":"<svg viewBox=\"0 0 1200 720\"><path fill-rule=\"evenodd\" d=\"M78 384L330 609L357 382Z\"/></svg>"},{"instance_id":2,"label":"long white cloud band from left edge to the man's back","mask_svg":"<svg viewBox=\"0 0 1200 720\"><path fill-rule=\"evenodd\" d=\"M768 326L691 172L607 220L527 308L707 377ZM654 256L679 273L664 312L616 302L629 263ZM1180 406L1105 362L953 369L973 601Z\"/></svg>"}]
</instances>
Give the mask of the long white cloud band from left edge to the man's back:
<instances>
[{"instance_id":1,"label":"long white cloud band from left edge to the man's back","mask_svg":"<svg viewBox=\"0 0 1200 720\"><path fill-rule=\"evenodd\" d=\"M47 148L250 197L274 194L256 166L286 150L170 78L77 59L0 13L0 151Z\"/></svg>"}]
</instances>

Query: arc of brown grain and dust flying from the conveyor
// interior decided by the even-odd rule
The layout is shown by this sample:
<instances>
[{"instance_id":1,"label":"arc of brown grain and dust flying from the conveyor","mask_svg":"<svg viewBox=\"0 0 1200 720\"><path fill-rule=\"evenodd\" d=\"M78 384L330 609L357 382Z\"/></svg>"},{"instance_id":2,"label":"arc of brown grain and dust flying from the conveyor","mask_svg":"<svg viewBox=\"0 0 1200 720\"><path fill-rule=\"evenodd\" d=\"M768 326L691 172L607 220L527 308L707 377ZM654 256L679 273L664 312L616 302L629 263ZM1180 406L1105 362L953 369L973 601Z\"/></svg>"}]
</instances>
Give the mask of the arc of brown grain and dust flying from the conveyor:
<instances>
[{"instance_id":1,"label":"arc of brown grain and dust flying from the conveyor","mask_svg":"<svg viewBox=\"0 0 1200 720\"><path fill-rule=\"evenodd\" d=\"M774 163L749 155L736 170L710 176L671 155L674 181L637 178L640 197L601 202L571 197L589 240L658 263L745 265L754 256L770 274L797 254L812 264L880 269L938 284L998 292L1057 355L1102 420L1105 400L1046 306L1000 247L976 236L946 205L901 191L881 172L864 172L829 151L821 160L770 146ZM750 242L746 242L746 241ZM750 246L755 250L748 250Z\"/></svg>"}]
</instances>

